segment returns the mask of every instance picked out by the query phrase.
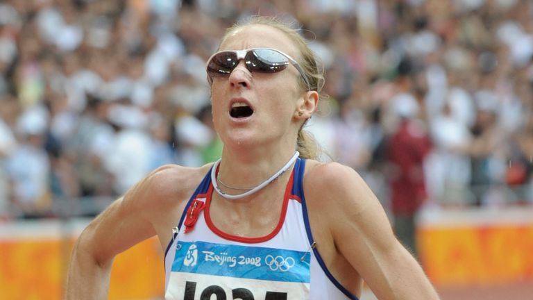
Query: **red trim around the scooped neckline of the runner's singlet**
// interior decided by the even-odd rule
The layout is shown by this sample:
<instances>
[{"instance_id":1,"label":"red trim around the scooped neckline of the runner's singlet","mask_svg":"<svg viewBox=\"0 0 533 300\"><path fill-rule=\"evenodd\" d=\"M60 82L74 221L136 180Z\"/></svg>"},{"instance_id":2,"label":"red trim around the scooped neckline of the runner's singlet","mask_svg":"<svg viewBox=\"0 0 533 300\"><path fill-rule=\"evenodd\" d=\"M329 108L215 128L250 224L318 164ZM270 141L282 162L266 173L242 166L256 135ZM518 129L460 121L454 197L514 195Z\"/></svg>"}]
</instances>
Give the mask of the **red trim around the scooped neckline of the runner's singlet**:
<instances>
[{"instance_id":1,"label":"red trim around the scooped neckline of the runner's singlet","mask_svg":"<svg viewBox=\"0 0 533 300\"><path fill-rule=\"evenodd\" d=\"M269 233L268 235L264 235L262 237L257 237L257 238L245 238L245 237L241 237L238 235L231 235L229 233L225 233L221 231L219 228L217 228L217 226L213 224L211 220L211 215L210 215L210 206L211 206L210 204L211 204L211 197L213 194L212 183L209 185L208 197L205 200L205 211L204 211L205 223L208 224L208 227L211 229L211 231L214 234L226 240L231 240L234 242L244 242L248 244L267 242L268 240L271 240L271 238L275 237L280 232L283 226L283 223L285 223L285 215L287 215L287 206L289 204L289 196L291 195L293 181L294 181L294 169L291 172L291 177L289 178L289 182L287 183L287 187L285 188L285 194L283 195L283 203L282 203L282 208L281 208L280 220L276 228L274 228L273 231Z\"/></svg>"}]
</instances>

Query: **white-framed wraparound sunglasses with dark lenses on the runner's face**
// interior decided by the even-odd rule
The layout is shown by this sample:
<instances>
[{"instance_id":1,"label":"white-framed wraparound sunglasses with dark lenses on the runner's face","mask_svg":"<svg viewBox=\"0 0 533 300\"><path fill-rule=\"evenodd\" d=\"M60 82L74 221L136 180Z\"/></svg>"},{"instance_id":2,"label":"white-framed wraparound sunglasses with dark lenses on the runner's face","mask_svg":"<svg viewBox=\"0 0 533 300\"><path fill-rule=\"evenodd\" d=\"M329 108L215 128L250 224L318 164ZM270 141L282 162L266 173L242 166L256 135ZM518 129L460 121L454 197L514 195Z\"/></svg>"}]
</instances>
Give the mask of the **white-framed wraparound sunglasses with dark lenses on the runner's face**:
<instances>
[{"instance_id":1,"label":"white-framed wraparound sunglasses with dark lenses on the runner's face","mask_svg":"<svg viewBox=\"0 0 533 300\"><path fill-rule=\"evenodd\" d=\"M307 79L302 67L298 65L296 60L282 51L271 48L224 50L214 53L209 58L206 67L209 83L212 83L214 77L230 76L233 69L239 64L239 60L242 59L244 59L248 71L252 73L278 73L286 69L291 63L302 75L303 81L307 85L307 90L311 90L309 79Z\"/></svg>"}]
</instances>

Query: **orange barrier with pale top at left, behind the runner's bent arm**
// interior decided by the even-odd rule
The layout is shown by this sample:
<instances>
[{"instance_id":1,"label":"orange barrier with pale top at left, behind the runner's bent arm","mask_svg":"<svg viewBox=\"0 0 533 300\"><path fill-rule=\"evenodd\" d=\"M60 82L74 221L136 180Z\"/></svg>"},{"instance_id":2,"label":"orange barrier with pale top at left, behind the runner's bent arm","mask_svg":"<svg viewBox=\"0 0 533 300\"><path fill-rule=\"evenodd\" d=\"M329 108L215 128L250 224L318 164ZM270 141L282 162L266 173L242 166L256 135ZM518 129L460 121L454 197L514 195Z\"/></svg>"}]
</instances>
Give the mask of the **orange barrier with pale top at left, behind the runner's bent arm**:
<instances>
[{"instance_id":1,"label":"orange barrier with pale top at left, behind the runner's bent arm","mask_svg":"<svg viewBox=\"0 0 533 300\"><path fill-rule=\"evenodd\" d=\"M62 226L49 221L29 227L0 224L0 299L62 299L75 240L69 236L62 238L65 235ZM162 299L163 290L163 256L156 238L115 258L110 300Z\"/></svg>"}]
</instances>

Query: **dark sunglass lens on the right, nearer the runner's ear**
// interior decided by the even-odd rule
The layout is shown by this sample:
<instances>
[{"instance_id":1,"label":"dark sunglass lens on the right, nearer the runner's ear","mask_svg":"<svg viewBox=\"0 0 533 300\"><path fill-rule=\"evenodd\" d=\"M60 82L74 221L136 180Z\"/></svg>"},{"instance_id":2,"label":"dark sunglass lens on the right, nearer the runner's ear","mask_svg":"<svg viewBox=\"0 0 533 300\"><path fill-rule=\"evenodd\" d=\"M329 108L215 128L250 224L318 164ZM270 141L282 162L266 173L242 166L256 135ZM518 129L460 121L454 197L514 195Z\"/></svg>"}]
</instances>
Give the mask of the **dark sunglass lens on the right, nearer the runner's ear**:
<instances>
[{"instance_id":1,"label":"dark sunglass lens on the right, nearer the runner's ear","mask_svg":"<svg viewBox=\"0 0 533 300\"><path fill-rule=\"evenodd\" d=\"M255 49L246 53L246 65L252 72L276 73L289 65L281 53L269 49Z\"/></svg>"}]
</instances>

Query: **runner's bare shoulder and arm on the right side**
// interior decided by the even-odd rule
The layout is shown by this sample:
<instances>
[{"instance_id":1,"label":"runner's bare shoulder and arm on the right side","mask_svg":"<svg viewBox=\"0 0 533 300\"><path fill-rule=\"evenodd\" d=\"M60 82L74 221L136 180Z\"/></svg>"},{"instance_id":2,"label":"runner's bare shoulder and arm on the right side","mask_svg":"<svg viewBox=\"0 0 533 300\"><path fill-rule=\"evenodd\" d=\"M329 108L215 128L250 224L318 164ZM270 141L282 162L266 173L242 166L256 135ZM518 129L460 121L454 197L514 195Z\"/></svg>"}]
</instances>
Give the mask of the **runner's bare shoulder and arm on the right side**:
<instances>
[{"instance_id":1,"label":"runner's bare shoulder and arm on the right side","mask_svg":"<svg viewBox=\"0 0 533 300\"><path fill-rule=\"evenodd\" d=\"M309 160L303 185L311 231L339 282L357 291L353 283L364 278L379 299L439 299L354 169Z\"/></svg>"}]
</instances>

